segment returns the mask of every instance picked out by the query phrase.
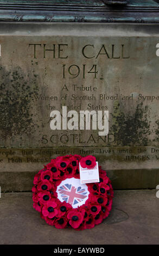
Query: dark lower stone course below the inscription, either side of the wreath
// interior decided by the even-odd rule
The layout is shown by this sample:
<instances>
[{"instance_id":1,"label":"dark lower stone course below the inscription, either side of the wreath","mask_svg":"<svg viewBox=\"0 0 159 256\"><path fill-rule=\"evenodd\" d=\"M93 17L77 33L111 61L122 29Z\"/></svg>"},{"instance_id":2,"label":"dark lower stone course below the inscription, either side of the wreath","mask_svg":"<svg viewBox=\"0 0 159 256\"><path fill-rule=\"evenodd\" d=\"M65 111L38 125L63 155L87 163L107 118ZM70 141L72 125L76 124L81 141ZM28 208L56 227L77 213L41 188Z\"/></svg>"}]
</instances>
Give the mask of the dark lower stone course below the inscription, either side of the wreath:
<instances>
[{"instance_id":1,"label":"dark lower stone course below the inscription, either side of the wreath","mask_svg":"<svg viewBox=\"0 0 159 256\"><path fill-rule=\"evenodd\" d=\"M20 167L13 172L1 172L1 190L2 192L11 191L31 191L33 187L33 179L39 171L36 166L32 166L32 171L25 171L23 164L21 172ZM34 171L36 169L36 171ZM138 189L138 188L154 188L158 185L158 169L130 169L130 170L109 170L107 175L112 181L115 189Z\"/></svg>"}]
</instances>

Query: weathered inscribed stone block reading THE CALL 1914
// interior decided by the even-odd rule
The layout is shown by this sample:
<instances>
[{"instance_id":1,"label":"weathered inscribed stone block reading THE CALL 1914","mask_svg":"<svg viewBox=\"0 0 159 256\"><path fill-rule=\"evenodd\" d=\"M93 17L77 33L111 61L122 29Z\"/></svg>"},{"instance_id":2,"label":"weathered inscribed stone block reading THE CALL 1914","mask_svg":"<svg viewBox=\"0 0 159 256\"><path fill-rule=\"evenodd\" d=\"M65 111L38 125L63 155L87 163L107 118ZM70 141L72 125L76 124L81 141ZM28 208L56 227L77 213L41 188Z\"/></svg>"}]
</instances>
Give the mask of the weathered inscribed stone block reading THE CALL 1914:
<instances>
[{"instance_id":1,"label":"weathered inscribed stone block reading THE CALL 1914","mask_svg":"<svg viewBox=\"0 0 159 256\"><path fill-rule=\"evenodd\" d=\"M0 172L15 172L20 183L22 173L30 172L28 190L30 177L52 157L92 154L109 171L114 187L156 187L157 28L2 23ZM62 106L108 110L109 134L79 126L51 130L50 113ZM1 179L3 191L15 190L16 178L12 189L5 175Z\"/></svg>"}]
</instances>

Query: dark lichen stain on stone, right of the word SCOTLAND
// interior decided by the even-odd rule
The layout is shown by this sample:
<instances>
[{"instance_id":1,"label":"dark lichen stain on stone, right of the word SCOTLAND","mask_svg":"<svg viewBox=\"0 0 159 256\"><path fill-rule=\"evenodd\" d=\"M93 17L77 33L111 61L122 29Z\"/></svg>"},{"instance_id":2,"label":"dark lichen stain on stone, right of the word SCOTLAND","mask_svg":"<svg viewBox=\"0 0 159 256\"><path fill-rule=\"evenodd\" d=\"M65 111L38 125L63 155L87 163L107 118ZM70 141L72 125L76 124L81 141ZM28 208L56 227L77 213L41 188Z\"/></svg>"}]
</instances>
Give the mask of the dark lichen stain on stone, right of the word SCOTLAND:
<instances>
[{"instance_id":1,"label":"dark lichen stain on stone, right of the word SCOTLAND","mask_svg":"<svg viewBox=\"0 0 159 256\"><path fill-rule=\"evenodd\" d=\"M148 145L150 131L149 106L139 103L135 113L122 112L120 103L114 102L112 126L110 131L115 134L118 145Z\"/></svg>"}]
</instances>

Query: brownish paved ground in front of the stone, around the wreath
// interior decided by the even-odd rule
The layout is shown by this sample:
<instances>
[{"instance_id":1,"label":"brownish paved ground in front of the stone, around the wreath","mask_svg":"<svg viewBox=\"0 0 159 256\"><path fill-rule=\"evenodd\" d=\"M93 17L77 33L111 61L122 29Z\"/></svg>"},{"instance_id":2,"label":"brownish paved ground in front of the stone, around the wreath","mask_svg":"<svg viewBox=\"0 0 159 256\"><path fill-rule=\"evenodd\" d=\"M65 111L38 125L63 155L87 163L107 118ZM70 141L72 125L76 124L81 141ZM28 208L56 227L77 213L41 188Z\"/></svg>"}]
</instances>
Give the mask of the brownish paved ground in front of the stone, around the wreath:
<instances>
[{"instance_id":1,"label":"brownish paved ground in front of the stone, around the wreath","mask_svg":"<svg viewBox=\"0 0 159 256\"><path fill-rule=\"evenodd\" d=\"M31 193L2 193L0 244L158 244L159 198L155 190L115 191L110 217L93 229L47 225L32 207Z\"/></svg>"}]
</instances>

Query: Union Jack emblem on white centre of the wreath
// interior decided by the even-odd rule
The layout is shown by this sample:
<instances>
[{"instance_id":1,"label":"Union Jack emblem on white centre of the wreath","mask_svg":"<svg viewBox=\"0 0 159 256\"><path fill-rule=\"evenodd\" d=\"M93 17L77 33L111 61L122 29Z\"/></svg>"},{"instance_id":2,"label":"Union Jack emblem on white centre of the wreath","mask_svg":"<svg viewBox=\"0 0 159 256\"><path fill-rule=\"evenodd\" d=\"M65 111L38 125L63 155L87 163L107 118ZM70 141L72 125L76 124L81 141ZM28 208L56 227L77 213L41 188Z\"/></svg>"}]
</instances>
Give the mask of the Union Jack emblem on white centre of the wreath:
<instances>
[{"instance_id":1,"label":"Union Jack emblem on white centre of the wreath","mask_svg":"<svg viewBox=\"0 0 159 256\"><path fill-rule=\"evenodd\" d=\"M88 191L85 188L81 188L80 186L74 187L72 184L60 186L58 192L61 194L63 201L72 206L82 202L88 196Z\"/></svg>"}]
</instances>

